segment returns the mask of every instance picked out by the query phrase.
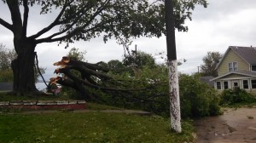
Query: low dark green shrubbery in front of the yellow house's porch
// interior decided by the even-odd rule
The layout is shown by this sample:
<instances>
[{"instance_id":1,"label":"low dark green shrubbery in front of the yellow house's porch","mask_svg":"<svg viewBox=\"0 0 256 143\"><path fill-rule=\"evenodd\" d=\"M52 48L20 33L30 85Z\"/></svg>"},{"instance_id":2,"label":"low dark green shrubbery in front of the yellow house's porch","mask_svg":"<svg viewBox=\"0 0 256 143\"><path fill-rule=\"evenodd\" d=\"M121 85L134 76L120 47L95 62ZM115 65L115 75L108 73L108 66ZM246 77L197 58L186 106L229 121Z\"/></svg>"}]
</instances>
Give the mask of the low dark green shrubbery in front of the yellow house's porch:
<instances>
[{"instance_id":1,"label":"low dark green shrubbery in front of the yellow house's porch","mask_svg":"<svg viewBox=\"0 0 256 143\"><path fill-rule=\"evenodd\" d=\"M234 105L237 103L253 103L256 102L256 96L247 93L246 90L235 88L224 90L221 94L221 105Z\"/></svg>"}]
</instances>

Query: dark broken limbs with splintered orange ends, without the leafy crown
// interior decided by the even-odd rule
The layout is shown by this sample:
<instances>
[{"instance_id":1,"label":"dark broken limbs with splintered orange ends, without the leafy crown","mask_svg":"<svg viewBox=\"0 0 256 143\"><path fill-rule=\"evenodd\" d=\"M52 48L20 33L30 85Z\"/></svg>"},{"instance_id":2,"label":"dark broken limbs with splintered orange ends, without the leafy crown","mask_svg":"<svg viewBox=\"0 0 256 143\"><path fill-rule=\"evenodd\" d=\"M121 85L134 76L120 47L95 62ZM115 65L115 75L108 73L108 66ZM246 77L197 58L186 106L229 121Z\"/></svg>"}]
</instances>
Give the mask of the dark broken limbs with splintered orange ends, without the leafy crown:
<instances>
[{"instance_id":1,"label":"dark broken limbs with splintered orange ends, without the leafy crown","mask_svg":"<svg viewBox=\"0 0 256 143\"><path fill-rule=\"evenodd\" d=\"M64 76L51 78L50 82L75 89L83 94L87 100L98 100L98 97L96 95L92 96L87 88L99 89L105 93L122 93L123 96L134 99L135 97L132 97L131 92L150 89L150 87L127 89L127 85L120 81L115 81L112 77L108 76L109 69L101 66L101 64L102 62L90 64L64 56L61 61L54 63L54 66L60 66L55 70L55 73L61 73ZM148 99L137 97L136 99L144 101L152 99L152 97Z\"/></svg>"}]
</instances>

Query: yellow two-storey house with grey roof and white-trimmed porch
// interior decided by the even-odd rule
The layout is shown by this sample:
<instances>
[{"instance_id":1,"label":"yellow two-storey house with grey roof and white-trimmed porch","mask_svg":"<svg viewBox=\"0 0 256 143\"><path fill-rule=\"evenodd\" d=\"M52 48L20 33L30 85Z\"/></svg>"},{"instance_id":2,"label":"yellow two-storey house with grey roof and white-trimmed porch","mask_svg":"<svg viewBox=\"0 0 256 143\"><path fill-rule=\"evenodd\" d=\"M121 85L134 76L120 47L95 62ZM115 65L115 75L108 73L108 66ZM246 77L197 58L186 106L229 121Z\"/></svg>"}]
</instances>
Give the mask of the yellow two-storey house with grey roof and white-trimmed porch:
<instances>
[{"instance_id":1,"label":"yellow two-storey house with grey roof and white-trimmed porch","mask_svg":"<svg viewBox=\"0 0 256 143\"><path fill-rule=\"evenodd\" d=\"M212 78L218 91L239 87L256 94L256 48L230 46L219 61L218 77Z\"/></svg>"}]
</instances>

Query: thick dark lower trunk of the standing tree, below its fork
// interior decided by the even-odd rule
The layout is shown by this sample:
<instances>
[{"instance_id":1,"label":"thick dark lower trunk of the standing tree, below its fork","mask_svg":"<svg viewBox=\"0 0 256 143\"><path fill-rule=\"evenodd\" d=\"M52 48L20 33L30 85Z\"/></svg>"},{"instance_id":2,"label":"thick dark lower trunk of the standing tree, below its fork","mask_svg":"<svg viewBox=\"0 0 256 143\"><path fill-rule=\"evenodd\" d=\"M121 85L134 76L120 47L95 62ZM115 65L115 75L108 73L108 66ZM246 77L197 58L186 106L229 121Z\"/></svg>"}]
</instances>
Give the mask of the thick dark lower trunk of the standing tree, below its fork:
<instances>
[{"instance_id":1,"label":"thick dark lower trunk of the standing tree, below its fork","mask_svg":"<svg viewBox=\"0 0 256 143\"><path fill-rule=\"evenodd\" d=\"M12 61L12 70L14 72L13 91L16 94L28 94L37 92L34 77L36 44L24 40L20 44L15 44L17 58Z\"/></svg>"}]
</instances>

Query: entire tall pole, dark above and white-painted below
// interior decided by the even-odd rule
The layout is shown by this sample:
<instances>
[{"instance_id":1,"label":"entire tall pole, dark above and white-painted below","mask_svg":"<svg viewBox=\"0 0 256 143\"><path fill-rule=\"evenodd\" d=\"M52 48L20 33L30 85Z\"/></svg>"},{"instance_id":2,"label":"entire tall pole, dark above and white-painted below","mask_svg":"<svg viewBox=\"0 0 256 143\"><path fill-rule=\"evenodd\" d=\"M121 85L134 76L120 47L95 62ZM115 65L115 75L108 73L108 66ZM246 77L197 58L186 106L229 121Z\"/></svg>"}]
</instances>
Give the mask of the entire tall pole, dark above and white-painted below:
<instances>
[{"instance_id":1,"label":"entire tall pole, dark above and white-painted below","mask_svg":"<svg viewBox=\"0 0 256 143\"><path fill-rule=\"evenodd\" d=\"M173 0L165 0L166 9L166 45L167 45L167 65L169 67L170 86L170 117L171 128L177 133L181 133L181 114L179 87L177 76L177 54L175 43L175 26L173 15Z\"/></svg>"}]
</instances>

